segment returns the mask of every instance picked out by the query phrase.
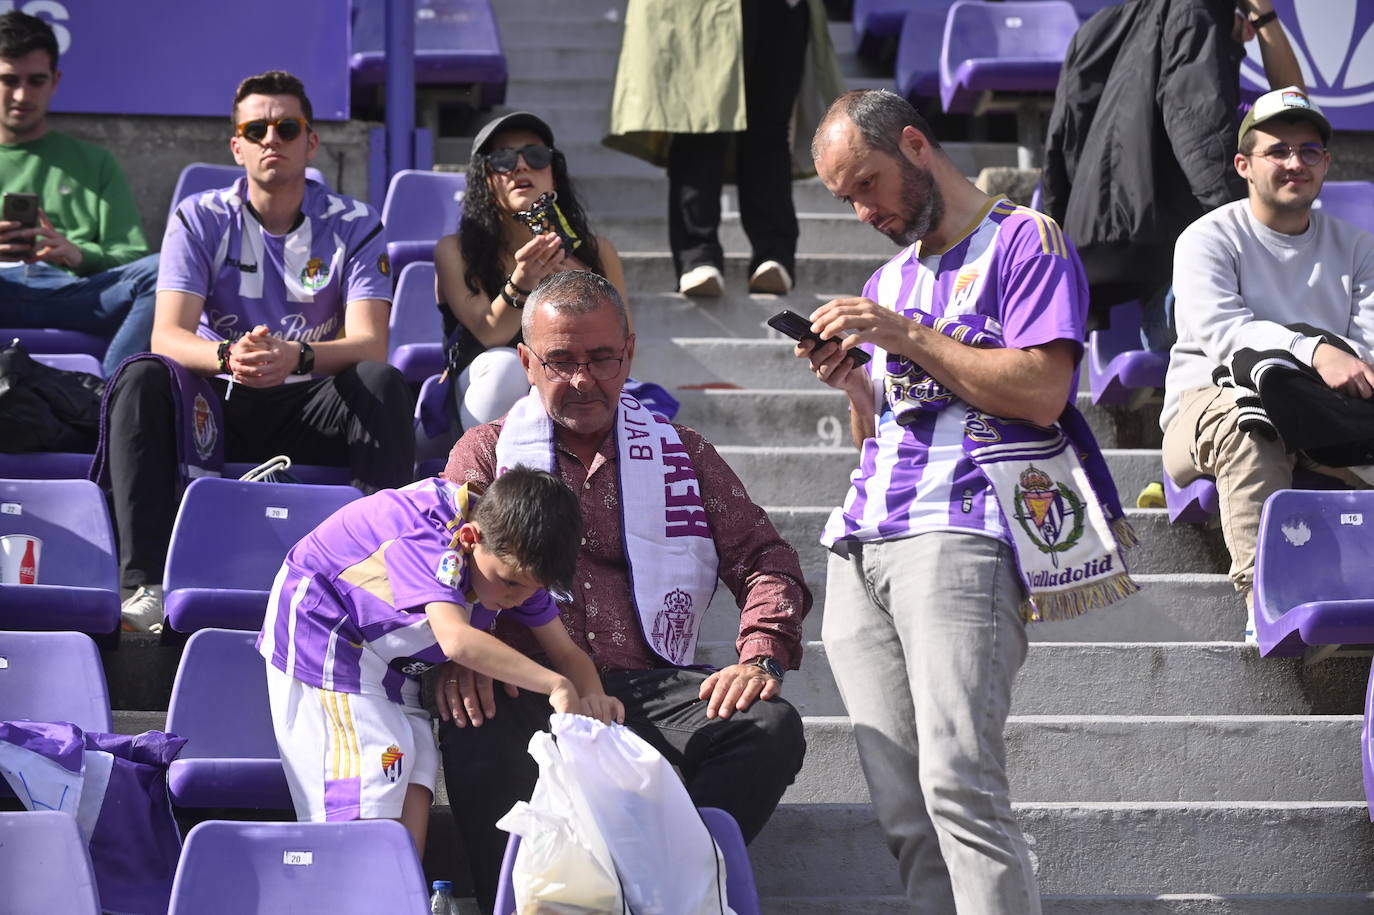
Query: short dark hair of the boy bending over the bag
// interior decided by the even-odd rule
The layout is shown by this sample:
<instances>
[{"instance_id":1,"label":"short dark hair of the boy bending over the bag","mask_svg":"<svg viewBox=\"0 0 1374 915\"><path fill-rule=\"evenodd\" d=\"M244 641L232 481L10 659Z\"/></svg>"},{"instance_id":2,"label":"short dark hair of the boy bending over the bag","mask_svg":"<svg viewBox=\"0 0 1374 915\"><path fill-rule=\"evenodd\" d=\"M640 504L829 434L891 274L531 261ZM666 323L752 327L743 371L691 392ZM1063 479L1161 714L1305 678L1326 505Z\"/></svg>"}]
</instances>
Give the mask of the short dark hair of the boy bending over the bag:
<instances>
[{"instance_id":1,"label":"short dark hair of the boy bending over the bag","mask_svg":"<svg viewBox=\"0 0 1374 915\"><path fill-rule=\"evenodd\" d=\"M515 466L497 477L473 510L482 544L529 572L545 588L567 591L577 572L583 510L554 474Z\"/></svg>"}]
</instances>

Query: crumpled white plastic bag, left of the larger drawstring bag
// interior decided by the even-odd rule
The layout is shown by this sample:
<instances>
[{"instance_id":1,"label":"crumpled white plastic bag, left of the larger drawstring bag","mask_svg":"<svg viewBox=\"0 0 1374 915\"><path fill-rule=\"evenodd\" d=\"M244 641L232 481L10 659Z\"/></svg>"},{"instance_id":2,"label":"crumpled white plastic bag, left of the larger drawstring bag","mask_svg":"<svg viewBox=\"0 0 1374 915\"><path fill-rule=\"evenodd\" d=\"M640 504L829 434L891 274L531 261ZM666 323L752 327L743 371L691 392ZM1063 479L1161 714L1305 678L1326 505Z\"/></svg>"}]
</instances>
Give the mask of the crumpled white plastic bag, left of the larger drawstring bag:
<instances>
[{"instance_id":1,"label":"crumpled white plastic bag, left of the larger drawstring bag","mask_svg":"<svg viewBox=\"0 0 1374 915\"><path fill-rule=\"evenodd\" d=\"M511 872L518 915L628 912L616 866L581 793L569 783L554 738L540 731L529 742L539 782L529 802L518 802L496 826L521 837Z\"/></svg>"}]
</instances>

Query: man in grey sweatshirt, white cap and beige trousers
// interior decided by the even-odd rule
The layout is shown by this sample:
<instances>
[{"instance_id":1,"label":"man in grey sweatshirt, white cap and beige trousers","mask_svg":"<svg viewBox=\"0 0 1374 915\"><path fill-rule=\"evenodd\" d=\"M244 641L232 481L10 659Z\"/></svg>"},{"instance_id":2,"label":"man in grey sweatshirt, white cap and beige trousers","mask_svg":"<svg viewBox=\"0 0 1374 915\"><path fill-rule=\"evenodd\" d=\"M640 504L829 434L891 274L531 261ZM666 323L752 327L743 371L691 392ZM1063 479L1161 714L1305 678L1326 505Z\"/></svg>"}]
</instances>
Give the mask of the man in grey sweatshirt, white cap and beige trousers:
<instances>
[{"instance_id":1,"label":"man in grey sweatshirt, white cap and beige trousers","mask_svg":"<svg viewBox=\"0 0 1374 915\"><path fill-rule=\"evenodd\" d=\"M1282 438L1239 429L1235 389L1215 386L1213 370L1239 349L1285 350L1331 389L1374 396L1374 235L1312 209L1330 139L1331 125L1298 88L1260 96L1235 155L1249 196L1193 223L1175 247L1179 339L1161 416L1164 467L1179 485L1216 478L1230 576L1246 605L1260 510L1293 485L1294 456ZM1358 356L1287 327L1297 323L1344 338Z\"/></svg>"}]
</instances>

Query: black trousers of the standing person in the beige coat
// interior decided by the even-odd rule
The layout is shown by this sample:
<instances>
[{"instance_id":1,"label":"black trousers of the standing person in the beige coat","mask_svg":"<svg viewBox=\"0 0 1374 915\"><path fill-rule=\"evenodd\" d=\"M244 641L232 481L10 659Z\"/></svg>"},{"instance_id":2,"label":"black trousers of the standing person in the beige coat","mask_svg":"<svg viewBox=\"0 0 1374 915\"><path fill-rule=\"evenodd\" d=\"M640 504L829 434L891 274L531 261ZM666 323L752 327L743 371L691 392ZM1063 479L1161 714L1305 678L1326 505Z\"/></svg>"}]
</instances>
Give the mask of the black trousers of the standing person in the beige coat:
<instances>
[{"instance_id":1,"label":"black trousers of the standing person in the beige coat","mask_svg":"<svg viewBox=\"0 0 1374 915\"><path fill-rule=\"evenodd\" d=\"M749 271L778 261L796 276L797 210L791 202L787 131L797 100L809 34L805 1L742 0L743 133L675 133L668 151L668 240L682 275L721 267L720 190L734 142L739 217L753 247Z\"/></svg>"}]
</instances>

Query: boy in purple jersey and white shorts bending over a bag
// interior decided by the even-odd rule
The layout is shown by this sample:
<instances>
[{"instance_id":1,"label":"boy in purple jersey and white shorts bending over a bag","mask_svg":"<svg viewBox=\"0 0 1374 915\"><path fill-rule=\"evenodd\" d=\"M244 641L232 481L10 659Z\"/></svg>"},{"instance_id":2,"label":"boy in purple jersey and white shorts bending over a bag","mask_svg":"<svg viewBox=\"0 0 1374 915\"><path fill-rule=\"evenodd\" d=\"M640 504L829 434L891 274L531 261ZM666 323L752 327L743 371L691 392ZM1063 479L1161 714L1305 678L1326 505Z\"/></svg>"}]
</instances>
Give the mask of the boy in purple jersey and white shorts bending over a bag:
<instances>
[{"instance_id":1,"label":"boy in purple jersey and white shorts bending over a bag","mask_svg":"<svg viewBox=\"0 0 1374 915\"><path fill-rule=\"evenodd\" d=\"M544 589L573 580L581 529L561 479L515 467L485 493L425 479L359 499L291 548L257 644L301 820L400 819L423 855L438 752L419 676L444 661L624 720ZM556 672L485 632L500 613Z\"/></svg>"}]
</instances>

